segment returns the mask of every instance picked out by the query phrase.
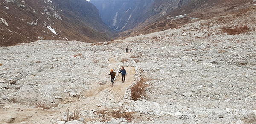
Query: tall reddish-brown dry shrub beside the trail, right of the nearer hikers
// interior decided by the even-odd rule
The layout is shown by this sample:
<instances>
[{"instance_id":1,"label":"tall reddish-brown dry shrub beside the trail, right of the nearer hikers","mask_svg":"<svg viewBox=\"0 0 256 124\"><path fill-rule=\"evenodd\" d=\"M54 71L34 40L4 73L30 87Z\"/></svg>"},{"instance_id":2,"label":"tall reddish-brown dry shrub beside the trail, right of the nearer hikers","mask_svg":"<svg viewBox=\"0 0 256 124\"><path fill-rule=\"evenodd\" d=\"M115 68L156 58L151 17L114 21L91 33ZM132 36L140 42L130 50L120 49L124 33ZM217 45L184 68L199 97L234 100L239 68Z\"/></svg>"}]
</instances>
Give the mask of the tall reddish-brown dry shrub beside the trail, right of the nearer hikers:
<instances>
[{"instance_id":1,"label":"tall reddish-brown dry shrub beside the trail, right of the nearer hikers","mask_svg":"<svg viewBox=\"0 0 256 124\"><path fill-rule=\"evenodd\" d=\"M141 78L140 81L138 81L135 85L133 85L131 87L131 99L136 101L137 99L139 99L141 96L144 96L146 95L146 92L145 92L145 85L144 83L148 81L147 79L145 78Z\"/></svg>"}]
</instances>

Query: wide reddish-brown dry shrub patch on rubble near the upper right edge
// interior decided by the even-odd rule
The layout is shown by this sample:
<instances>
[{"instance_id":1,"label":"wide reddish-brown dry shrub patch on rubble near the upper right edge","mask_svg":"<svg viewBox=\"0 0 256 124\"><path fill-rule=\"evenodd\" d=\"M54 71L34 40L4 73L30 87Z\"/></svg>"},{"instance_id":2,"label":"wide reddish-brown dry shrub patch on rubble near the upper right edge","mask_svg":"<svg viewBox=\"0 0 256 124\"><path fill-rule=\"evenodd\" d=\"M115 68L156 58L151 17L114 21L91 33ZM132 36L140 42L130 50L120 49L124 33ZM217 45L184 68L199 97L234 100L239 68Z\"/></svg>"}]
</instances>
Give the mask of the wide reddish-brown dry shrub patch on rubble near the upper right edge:
<instances>
[{"instance_id":1,"label":"wide reddish-brown dry shrub patch on rubble near the upper right edge","mask_svg":"<svg viewBox=\"0 0 256 124\"><path fill-rule=\"evenodd\" d=\"M227 28L223 27L222 31L229 34L229 35L236 35L236 34L241 34L249 31L248 26L240 26L240 27L235 27L235 28Z\"/></svg>"}]
</instances>

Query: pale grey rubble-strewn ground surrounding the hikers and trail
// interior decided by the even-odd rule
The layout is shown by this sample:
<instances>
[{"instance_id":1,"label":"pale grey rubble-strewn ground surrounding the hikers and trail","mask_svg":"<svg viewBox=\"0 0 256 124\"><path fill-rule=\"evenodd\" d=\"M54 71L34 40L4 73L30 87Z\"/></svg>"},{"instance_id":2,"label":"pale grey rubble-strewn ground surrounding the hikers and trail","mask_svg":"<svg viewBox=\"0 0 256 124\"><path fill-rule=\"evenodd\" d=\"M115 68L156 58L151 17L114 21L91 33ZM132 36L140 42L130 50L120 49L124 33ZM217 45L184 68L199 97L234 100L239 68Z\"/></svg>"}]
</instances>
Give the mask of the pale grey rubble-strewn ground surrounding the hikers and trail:
<instances>
[{"instance_id":1,"label":"pale grey rubble-strewn ground surrounding the hikers and trail","mask_svg":"<svg viewBox=\"0 0 256 124\"><path fill-rule=\"evenodd\" d=\"M0 47L0 123L255 124L255 14L248 4L111 42ZM112 87L121 66L127 80Z\"/></svg>"}]
</instances>

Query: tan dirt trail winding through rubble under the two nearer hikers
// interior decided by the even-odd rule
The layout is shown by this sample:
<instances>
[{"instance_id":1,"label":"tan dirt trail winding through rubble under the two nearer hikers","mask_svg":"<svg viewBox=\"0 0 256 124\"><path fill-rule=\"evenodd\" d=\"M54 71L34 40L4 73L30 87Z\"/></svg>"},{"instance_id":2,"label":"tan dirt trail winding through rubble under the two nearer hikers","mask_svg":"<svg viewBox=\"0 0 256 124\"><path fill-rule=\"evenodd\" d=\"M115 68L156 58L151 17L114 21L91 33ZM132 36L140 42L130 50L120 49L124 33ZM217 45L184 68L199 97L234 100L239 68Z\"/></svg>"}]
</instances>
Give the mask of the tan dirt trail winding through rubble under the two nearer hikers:
<instances>
[{"instance_id":1,"label":"tan dirt trail winding through rubble under the two nearer hikers","mask_svg":"<svg viewBox=\"0 0 256 124\"><path fill-rule=\"evenodd\" d=\"M129 55L129 53L124 53L125 57L129 57ZM116 58L110 58L109 61L111 63L110 69L118 68ZM95 83L92 88L82 92L85 97L84 99L77 99L70 103L66 102L63 107L59 107L58 109L43 110L42 108L28 108L17 103L10 103L4 105L10 106L10 108L0 109L0 118L5 118L4 120L11 117L14 118L10 121L12 124L49 124L53 123L51 120L56 120L56 118L61 119L63 117L60 117L60 115L63 115L61 113L66 112L67 109L73 109L76 106L80 107L81 110L99 110L101 107L97 107L97 104L116 103L122 100L126 88L133 83L135 75L134 67L125 67L125 70L127 72L125 83L122 83L121 74L116 77L113 87L110 78L107 79L104 85ZM115 71L117 72L116 75L118 75L118 70Z\"/></svg>"}]
</instances>

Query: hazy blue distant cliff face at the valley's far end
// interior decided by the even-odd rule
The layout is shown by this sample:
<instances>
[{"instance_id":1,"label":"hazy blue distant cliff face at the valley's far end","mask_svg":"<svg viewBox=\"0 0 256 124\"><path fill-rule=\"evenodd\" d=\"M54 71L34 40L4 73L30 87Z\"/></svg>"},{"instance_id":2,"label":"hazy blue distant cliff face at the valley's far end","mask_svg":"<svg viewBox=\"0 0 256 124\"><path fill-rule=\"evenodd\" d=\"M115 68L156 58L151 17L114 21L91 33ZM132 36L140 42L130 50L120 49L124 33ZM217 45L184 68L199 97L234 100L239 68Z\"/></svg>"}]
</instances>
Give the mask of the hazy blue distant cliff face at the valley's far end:
<instances>
[{"instance_id":1,"label":"hazy blue distant cliff face at the valley's far end","mask_svg":"<svg viewBox=\"0 0 256 124\"><path fill-rule=\"evenodd\" d=\"M189 0L91 0L103 22L112 30L132 29L147 20L163 17Z\"/></svg>"}]
</instances>

